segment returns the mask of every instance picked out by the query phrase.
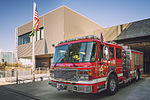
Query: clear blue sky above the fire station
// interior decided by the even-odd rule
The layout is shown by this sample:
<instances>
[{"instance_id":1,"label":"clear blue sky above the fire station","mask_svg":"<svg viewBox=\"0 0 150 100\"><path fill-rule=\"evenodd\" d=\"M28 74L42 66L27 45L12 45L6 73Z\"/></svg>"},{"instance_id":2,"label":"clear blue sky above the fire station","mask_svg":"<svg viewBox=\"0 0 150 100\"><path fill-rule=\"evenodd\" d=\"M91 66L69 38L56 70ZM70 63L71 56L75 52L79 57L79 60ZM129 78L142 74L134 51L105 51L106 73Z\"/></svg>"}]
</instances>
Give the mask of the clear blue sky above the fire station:
<instances>
[{"instance_id":1,"label":"clear blue sky above the fire station","mask_svg":"<svg viewBox=\"0 0 150 100\"><path fill-rule=\"evenodd\" d=\"M150 0L0 0L0 49L15 50L15 28L32 20L34 1L39 16L65 5L103 27L150 18Z\"/></svg>"}]
</instances>

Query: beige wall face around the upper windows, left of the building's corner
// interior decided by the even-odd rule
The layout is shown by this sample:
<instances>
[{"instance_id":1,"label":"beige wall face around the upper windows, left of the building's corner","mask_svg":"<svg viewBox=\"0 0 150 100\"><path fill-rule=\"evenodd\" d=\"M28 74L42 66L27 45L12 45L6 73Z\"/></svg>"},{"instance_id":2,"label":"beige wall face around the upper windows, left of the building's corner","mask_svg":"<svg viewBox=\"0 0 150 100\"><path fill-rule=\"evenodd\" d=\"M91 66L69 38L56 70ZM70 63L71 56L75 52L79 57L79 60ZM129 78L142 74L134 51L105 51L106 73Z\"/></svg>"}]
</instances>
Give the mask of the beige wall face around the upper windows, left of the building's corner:
<instances>
[{"instance_id":1,"label":"beige wall face around the upper windows, left of the building's corner","mask_svg":"<svg viewBox=\"0 0 150 100\"><path fill-rule=\"evenodd\" d=\"M51 54L54 52L52 44L57 44L64 39L64 8L58 8L39 18L40 27L44 27L44 40L35 42L35 55ZM32 21L18 27L18 36L32 30ZM18 46L18 57L30 57L32 44Z\"/></svg>"}]
</instances>

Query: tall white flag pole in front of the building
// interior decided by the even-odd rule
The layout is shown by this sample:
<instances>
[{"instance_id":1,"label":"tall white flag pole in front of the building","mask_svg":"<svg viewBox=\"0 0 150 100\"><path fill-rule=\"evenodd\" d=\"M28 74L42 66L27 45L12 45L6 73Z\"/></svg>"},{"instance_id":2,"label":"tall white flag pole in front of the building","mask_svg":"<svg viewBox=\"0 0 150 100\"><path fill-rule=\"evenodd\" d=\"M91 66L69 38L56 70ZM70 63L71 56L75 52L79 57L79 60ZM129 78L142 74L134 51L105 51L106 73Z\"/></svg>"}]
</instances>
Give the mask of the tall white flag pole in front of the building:
<instances>
[{"instance_id":1,"label":"tall white flag pole in front of the building","mask_svg":"<svg viewBox=\"0 0 150 100\"><path fill-rule=\"evenodd\" d=\"M36 3L33 4L33 28L34 28L34 13L35 13ZM35 55L34 55L34 42L35 42L35 35L32 36L32 80L35 81Z\"/></svg>"}]
</instances>

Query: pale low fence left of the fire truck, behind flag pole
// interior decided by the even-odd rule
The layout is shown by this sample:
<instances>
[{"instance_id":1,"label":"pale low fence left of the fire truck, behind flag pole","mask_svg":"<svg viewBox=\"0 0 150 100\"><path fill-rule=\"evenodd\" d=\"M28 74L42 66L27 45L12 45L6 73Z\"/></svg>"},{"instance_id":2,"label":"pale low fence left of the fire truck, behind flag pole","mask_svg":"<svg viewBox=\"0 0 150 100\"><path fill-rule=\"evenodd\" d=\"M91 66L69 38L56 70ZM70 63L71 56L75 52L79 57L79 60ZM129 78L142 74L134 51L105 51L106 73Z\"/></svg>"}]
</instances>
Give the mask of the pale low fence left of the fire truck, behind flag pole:
<instances>
[{"instance_id":1,"label":"pale low fence left of the fire truck, behind flag pole","mask_svg":"<svg viewBox=\"0 0 150 100\"><path fill-rule=\"evenodd\" d=\"M35 69L35 81L49 79L49 69L39 67ZM0 70L0 82L32 82L33 73L31 68Z\"/></svg>"}]
</instances>

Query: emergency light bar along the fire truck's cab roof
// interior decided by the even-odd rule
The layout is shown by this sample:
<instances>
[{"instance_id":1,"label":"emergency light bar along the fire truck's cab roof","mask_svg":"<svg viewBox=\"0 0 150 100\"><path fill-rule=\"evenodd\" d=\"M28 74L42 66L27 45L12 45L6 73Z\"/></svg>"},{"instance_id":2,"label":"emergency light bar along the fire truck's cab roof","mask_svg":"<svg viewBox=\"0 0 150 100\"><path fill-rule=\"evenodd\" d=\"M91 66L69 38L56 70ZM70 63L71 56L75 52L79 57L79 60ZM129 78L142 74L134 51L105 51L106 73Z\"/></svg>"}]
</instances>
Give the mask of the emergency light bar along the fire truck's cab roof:
<instances>
[{"instance_id":1,"label":"emergency light bar along the fire truck's cab roof","mask_svg":"<svg viewBox=\"0 0 150 100\"><path fill-rule=\"evenodd\" d=\"M58 44L65 43L65 42L76 41L76 40L83 40L83 39L97 39L97 40L101 40L98 36L87 35L87 36L83 36L83 37L78 37L78 38L73 38L73 39L69 39L69 40L64 40L64 41L59 42Z\"/></svg>"}]
</instances>

